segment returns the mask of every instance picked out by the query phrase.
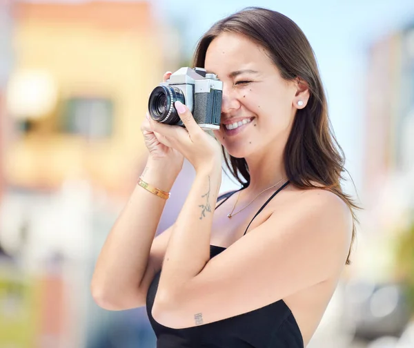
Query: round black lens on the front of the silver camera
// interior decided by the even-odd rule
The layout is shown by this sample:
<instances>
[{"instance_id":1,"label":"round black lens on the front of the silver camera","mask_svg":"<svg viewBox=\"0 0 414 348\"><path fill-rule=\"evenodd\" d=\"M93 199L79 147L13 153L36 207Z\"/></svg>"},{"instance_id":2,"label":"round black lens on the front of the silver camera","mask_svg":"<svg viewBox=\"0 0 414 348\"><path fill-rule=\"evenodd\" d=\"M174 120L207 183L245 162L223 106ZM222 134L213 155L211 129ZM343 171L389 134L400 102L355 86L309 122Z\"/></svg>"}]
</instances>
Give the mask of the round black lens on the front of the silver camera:
<instances>
[{"instance_id":1,"label":"round black lens on the front of the silver camera","mask_svg":"<svg viewBox=\"0 0 414 348\"><path fill-rule=\"evenodd\" d=\"M179 115L175 110L175 101L185 104L181 90L174 86L158 86L152 90L148 100L150 117L157 122L165 124L177 124Z\"/></svg>"}]
</instances>

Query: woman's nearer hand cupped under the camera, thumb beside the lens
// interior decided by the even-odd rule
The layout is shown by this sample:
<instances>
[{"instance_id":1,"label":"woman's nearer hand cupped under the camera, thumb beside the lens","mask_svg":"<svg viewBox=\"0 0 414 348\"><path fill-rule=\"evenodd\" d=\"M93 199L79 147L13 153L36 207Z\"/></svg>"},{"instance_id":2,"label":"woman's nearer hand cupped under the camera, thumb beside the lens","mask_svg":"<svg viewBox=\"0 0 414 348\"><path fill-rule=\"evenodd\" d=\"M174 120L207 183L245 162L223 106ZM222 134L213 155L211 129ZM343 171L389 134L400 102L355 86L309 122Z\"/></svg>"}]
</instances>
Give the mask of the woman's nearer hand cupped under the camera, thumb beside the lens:
<instances>
[{"instance_id":1,"label":"woman's nearer hand cupped under the camera, thumb beside the lens","mask_svg":"<svg viewBox=\"0 0 414 348\"><path fill-rule=\"evenodd\" d=\"M184 155L196 172L217 168L221 173L221 146L217 140L200 128L187 106L176 101L175 108L186 128L150 119L152 131L164 136L164 144Z\"/></svg>"}]
</instances>

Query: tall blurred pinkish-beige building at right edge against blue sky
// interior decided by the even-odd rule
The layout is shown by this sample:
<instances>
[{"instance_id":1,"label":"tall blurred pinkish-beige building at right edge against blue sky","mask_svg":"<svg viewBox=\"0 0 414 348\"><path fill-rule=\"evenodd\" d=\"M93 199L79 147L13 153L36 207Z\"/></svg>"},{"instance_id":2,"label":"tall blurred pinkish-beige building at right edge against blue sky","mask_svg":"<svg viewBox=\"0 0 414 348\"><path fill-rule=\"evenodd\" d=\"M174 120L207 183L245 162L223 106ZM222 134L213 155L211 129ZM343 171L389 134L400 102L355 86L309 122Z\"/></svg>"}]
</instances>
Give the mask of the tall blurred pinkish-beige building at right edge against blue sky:
<instances>
[{"instance_id":1,"label":"tall blurred pinkish-beige building at right edge against blue sky","mask_svg":"<svg viewBox=\"0 0 414 348\"><path fill-rule=\"evenodd\" d=\"M366 87L364 193L375 201L384 178L413 174L414 26L371 46Z\"/></svg>"}]
</instances>

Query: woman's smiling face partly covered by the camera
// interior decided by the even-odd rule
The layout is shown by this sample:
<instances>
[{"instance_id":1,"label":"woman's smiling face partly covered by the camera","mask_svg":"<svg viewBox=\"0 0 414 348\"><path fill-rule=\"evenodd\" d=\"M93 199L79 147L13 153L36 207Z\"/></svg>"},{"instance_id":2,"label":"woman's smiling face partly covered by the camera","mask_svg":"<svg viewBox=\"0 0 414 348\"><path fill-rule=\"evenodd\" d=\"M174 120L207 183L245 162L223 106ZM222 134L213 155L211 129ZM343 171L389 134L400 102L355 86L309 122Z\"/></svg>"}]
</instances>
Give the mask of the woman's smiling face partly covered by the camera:
<instances>
[{"instance_id":1,"label":"woman's smiling face partly covered by the camera","mask_svg":"<svg viewBox=\"0 0 414 348\"><path fill-rule=\"evenodd\" d=\"M242 35L223 33L208 46L205 68L223 81L221 125L214 133L230 155L248 157L277 140L286 143L297 88L282 79L264 48Z\"/></svg>"}]
</instances>

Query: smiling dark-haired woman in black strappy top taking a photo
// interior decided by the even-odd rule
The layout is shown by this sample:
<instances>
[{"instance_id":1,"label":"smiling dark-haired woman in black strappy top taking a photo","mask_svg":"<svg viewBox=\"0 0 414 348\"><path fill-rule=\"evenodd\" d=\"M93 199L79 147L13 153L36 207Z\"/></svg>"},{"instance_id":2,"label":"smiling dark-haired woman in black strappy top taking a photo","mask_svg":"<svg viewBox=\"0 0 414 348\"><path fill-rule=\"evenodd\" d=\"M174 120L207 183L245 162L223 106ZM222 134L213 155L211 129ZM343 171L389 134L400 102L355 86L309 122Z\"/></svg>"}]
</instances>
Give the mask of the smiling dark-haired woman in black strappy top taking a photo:
<instances>
[{"instance_id":1,"label":"smiling dark-haired woman in black strappy top taking a photo","mask_svg":"<svg viewBox=\"0 0 414 348\"><path fill-rule=\"evenodd\" d=\"M284 15L248 8L208 30L194 63L223 81L218 142L178 102L186 128L147 116L140 184L166 192L132 193L99 255L95 301L146 305L157 347L304 347L349 264L356 208L313 50ZM217 200L221 148L243 187ZM195 181L154 239L184 157Z\"/></svg>"}]
</instances>

